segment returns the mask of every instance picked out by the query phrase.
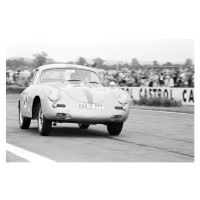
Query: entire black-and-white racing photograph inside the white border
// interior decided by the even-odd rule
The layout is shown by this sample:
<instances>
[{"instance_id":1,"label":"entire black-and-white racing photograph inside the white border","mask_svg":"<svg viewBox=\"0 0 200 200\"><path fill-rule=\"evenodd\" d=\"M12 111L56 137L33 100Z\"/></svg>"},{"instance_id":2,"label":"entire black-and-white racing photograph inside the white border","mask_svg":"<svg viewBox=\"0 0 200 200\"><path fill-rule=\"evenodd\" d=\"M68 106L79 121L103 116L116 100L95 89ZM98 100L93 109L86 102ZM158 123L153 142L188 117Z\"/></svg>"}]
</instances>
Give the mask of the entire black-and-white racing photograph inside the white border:
<instances>
[{"instance_id":1,"label":"entire black-and-white racing photograph inside the white border","mask_svg":"<svg viewBox=\"0 0 200 200\"><path fill-rule=\"evenodd\" d=\"M7 47L7 162L194 162L193 40L34 45Z\"/></svg>"}]
</instances>

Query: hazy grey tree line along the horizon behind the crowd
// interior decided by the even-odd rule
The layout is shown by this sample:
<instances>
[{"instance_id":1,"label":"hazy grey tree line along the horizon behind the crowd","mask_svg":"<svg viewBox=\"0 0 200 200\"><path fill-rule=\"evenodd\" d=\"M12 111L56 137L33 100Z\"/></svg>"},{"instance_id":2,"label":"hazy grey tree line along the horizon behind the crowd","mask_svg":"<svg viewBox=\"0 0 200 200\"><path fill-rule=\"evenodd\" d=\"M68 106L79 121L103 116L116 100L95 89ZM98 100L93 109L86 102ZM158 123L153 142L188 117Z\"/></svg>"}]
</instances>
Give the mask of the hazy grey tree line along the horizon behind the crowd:
<instances>
[{"instance_id":1,"label":"hazy grey tree line along the horizon behind the crowd","mask_svg":"<svg viewBox=\"0 0 200 200\"><path fill-rule=\"evenodd\" d=\"M142 65L138 61L137 58L133 58L131 62L119 62L118 64L115 62L111 62L111 64L106 64L106 60L103 60L101 58L95 58L92 60L93 63L88 63L87 60L84 57L79 57L76 61L69 61L65 62L67 64L78 64L78 65L85 65L90 67L96 67L99 69L120 69L120 68L142 68L146 66L152 66L152 67L193 67L193 61L192 59L188 58L185 60L185 63L183 65L173 64L172 62L166 62L165 64L160 65L158 61L153 61L152 65ZM21 58L8 58L6 60L6 68L17 70L17 69L35 69L39 66L45 65L45 64L53 64L53 63L63 63L63 62L55 62L52 58L49 57L49 55L42 51L36 54L33 54L33 59L27 60L23 57Z\"/></svg>"}]
</instances>

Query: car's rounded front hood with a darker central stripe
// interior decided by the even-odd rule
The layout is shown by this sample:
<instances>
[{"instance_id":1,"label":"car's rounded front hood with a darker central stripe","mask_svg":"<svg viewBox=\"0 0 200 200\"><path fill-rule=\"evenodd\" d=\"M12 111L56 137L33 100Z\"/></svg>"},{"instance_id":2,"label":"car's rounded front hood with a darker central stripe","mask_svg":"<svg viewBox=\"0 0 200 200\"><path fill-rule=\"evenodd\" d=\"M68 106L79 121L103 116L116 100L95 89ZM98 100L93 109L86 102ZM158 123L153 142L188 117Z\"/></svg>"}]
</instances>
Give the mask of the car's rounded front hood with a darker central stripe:
<instances>
[{"instance_id":1,"label":"car's rounded front hood with a darker central stripe","mask_svg":"<svg viewBox=\"0 0 200 200\"><path fill-rule=\"evenodd\" d=\"M53 85L53 87L82 103L96 104L104 101L106 98L106 89L96 84L58 83Z\"/></svg>"}]
</instances>

